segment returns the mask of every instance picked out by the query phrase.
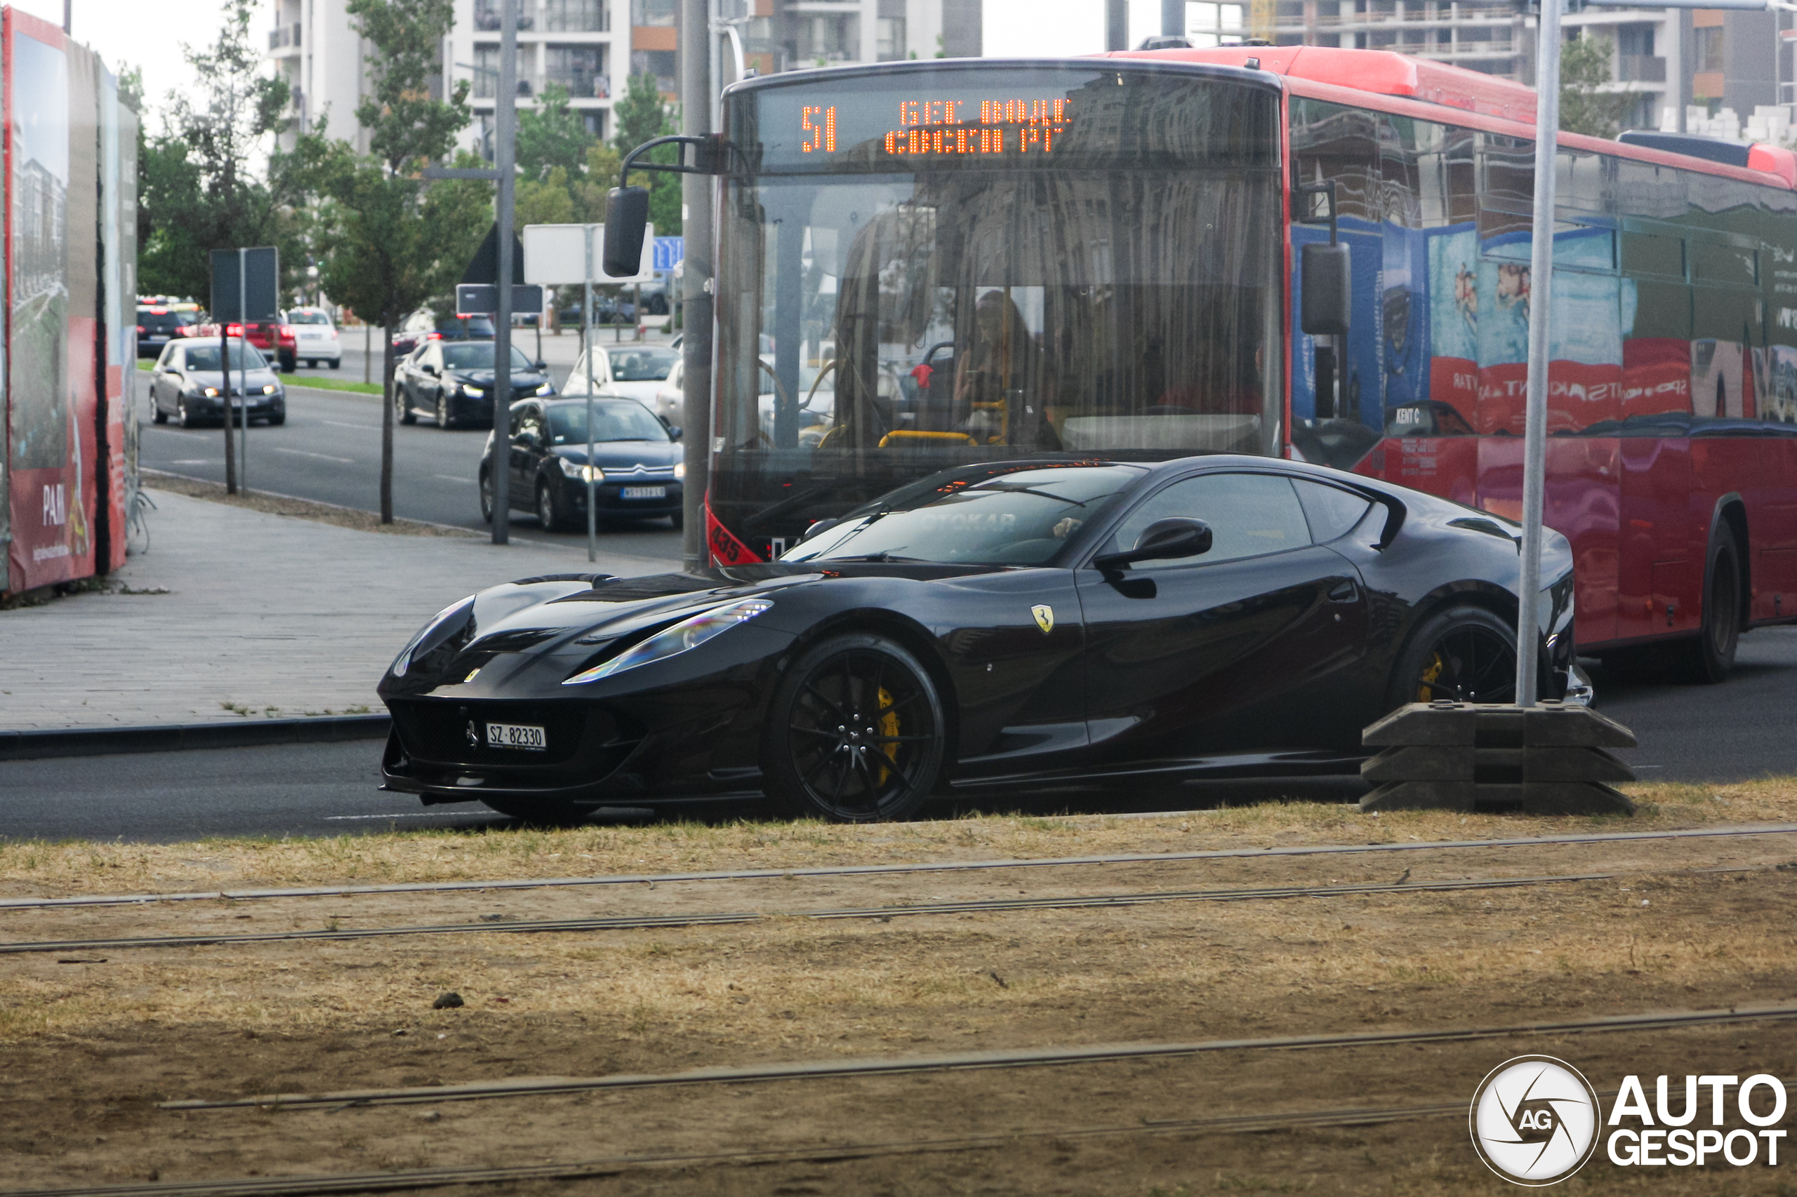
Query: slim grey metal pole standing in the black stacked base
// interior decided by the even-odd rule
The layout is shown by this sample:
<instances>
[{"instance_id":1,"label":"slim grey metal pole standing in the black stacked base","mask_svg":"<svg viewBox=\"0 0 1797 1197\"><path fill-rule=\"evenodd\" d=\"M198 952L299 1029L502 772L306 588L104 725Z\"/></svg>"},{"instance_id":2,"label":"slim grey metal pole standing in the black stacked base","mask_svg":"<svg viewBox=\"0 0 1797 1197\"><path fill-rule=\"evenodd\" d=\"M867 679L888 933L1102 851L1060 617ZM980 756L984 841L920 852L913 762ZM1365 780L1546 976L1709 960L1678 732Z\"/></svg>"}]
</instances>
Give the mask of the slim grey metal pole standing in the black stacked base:
<instances>
[{"instance_id":1,"label":"slim grey metal pole standing in the black stacked base","mask_svg":"<svg viewBox=\"0 0 1797 1197\"><path fill-rule=\"evenodd\" d=\"M1542 498L1547 466L1549 304L1554 282L1554 174L1560 131L1560 4L1544 0L1535 40L1535 232L1529 257L1529 395L1522 424L1522 582L1517 595L1517 705L1535 706L1542 643Z\"/></svg>"}]
</instances>

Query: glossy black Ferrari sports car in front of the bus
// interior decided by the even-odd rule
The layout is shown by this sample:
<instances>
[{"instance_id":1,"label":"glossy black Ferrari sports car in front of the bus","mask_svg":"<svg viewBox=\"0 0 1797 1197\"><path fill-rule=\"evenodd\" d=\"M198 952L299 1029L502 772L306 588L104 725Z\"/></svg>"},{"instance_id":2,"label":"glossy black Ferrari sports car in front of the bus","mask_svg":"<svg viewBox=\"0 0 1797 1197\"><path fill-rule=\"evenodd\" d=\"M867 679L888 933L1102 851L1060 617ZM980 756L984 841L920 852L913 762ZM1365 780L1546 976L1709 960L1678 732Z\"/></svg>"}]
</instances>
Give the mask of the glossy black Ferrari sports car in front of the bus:
<instances>
[{"instance_id":1,"label":"glossy black Ferrari sports car in front of the bus","mask_svg":"<svg viewBox=\"0 0 1797 1197\"><path fill-rule=\"evenodd\" d=\"M1515 536L1269 458L965 467L771 564L455 604L381 679L385 780L530 818L766 793L864 821L943 791L1351 771L1402 703L1511 699ZM1544 690L1589 699L1554 532L1542 577Z\"/></svg>"}]
</instances>

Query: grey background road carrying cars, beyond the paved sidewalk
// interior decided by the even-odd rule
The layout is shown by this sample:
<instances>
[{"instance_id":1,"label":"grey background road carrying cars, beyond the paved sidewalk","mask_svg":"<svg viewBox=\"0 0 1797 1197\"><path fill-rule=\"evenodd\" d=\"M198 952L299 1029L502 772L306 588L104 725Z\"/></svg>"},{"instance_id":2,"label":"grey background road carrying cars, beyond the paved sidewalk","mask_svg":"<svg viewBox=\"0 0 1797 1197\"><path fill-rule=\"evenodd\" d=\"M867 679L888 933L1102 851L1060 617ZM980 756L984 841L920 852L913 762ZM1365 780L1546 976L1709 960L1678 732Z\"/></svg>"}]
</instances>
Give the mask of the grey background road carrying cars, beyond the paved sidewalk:
<instances>
[{"instance_id":1,"label":"grey background road carrying cars, beyond the paved sidewalk","mask_svg":"<svg viewBox=\"0 0 1797 1197\"><path fill-rule=\"evenodd\" d=\"M349 367L345 365L345 370ZM149 419L149 383L140 374L142 464L189 478L225 482L221 428L185 430ZM476 471L487 442L485 428L440 430L435 424L394 426L394 514L464 528L487 530L480 518ZM354 392L307 390L289 381L288 422L250 428L248 482L252 489L379 510L381 401ZM512 512L521 539L586 546L586 532L544 532L536 516ZM665 519L600 530L606 550L681 561L681 534Z\"/></svg>"}]
</instances>

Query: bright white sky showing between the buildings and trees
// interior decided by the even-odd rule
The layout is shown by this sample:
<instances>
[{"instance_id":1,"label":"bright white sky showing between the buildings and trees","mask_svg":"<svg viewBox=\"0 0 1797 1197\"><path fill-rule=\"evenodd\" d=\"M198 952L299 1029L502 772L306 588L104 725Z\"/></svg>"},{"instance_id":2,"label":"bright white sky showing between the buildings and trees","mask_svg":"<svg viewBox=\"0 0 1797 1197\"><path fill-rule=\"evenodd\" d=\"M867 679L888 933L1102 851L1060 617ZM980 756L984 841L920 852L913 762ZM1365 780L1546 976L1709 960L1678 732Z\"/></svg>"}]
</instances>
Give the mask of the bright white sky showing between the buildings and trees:
<instances>
[{"instance_id":1,"label":"bright white sky showing between the buildings and trees","mask_svg":"<svg viewBox=\"0 0 1797 1197\"><path fill-rule=\"evenodd\" d=\"M63 0L11 0L20 11L63 23ZM194 84L181 43L210 41L223 20L221 0L72 0L74 36L92 47L106 66L142 66L144 93L155 113L171 90ZM624 7L629 0L613 0ZM1028 54L1093 54L1105 49L1105 0L983 0L985 52L994 58ZM1130 45L1159 32L1161 0L1129 0ZM264 5L252 22L262 38L273 25ZM155 126L153 126L155 129Z\"/></svg>"}]
</instances>

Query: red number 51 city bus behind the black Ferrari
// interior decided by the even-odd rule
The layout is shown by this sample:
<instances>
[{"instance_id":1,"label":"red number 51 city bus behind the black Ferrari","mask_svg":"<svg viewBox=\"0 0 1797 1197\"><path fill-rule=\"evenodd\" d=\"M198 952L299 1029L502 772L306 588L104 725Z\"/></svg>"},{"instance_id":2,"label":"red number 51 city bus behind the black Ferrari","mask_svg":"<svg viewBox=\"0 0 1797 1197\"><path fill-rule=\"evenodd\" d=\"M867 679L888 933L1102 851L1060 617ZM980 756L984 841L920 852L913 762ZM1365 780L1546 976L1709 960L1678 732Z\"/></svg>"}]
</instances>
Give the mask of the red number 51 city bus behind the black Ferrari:
<instances>
[{"instance_id":1,"label":"red number 51 city bus behind the black Ferrari","mask_svg":"<svg viewBox=\"0 0 1797 1197\"><path fill-rule=\"evenodd\" d=\"M798 72L726 93L708 548L940 469L1297 457L1520 514L1535 93L1377 50ZM1797 620L1797 158L1562 135L1547 523L1581 652ZM1344 336L1301 246L1350 246Z\"/></svg>"}]
</instances>

